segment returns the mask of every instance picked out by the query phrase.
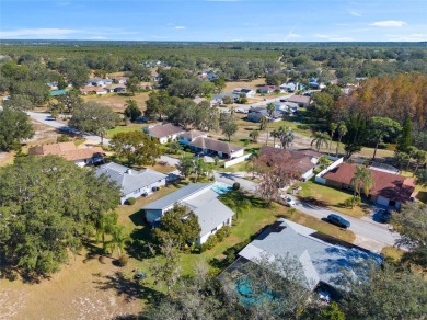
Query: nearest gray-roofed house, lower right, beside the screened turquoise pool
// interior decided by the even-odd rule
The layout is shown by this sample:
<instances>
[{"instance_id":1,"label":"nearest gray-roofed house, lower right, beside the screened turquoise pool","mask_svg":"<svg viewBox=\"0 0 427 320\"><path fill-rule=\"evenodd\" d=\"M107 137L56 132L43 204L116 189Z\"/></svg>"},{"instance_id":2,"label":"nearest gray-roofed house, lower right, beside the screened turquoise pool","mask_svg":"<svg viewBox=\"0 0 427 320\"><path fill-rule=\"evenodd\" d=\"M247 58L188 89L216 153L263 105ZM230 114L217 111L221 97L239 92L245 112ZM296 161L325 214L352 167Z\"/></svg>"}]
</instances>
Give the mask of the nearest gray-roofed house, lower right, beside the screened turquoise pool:
<instances>
[{"instance_id":1,"label":"nearest gray-roofed house, lower right, beside the screened turquoise pool","mask_svg":"<svg viewBox=\"0 0 427 320\"><path fill-rule=\"evenodd\" d=\"M235 271L244 273L245 264L259 264L262 259L273 262L280 258L293 258L300 262L307 288L314 290L321 286L331 288L331 292L343 288L336 283L343 268L357 276L357 266L362 261L373 260L378 265L382 262L379 254L280 218L243 248L219 278Z\"/></svg>"}]
</instances>

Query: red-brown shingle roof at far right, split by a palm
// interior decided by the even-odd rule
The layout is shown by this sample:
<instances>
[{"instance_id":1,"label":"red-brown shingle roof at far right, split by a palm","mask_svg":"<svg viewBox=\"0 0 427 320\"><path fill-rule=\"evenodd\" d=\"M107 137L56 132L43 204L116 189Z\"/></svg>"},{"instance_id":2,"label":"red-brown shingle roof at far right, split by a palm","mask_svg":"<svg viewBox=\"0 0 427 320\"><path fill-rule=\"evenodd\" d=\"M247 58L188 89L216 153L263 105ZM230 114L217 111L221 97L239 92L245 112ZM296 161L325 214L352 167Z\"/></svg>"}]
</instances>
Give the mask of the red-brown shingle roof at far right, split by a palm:
<instances>
[{"instance_id":1,"label":"red-brown shingle roof at far right, split by a palm","mask_svg":"<svg viewBox=\"0 0 427 320\"><path fill-rule=\"evenodd\" d=\"M407 202L411 198L415 190L414 179L373 169L368 170L372 173L373 178L373 186L369 192L370 195L382 196L402 203ZM349 185L355 175L355 164L342 163L332 171L325 173L323 178Z\"/></svg>"}]
</instances>

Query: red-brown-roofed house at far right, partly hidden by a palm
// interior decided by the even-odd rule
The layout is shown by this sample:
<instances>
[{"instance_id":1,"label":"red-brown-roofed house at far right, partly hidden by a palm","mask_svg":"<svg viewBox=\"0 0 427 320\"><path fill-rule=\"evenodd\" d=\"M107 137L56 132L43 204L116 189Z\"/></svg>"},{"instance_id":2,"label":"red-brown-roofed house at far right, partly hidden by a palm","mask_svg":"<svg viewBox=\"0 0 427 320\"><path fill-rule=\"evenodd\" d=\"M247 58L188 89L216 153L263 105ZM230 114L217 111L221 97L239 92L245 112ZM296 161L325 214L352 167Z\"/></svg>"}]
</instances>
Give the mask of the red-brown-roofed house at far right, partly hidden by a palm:
<instances>
[{"instance_id":1,"label":"red-brown-roofed house at far right, partly hidden by a palm","mask_svg":"<svg viewBox=\"0 0 427 320\"><path fill-rule=\"evenodd\" d=\"M415 182L412 178L402 176L368 168L373 178L373 186L368 198L376 204L400 209L401 205L415 197ZM337 188L353 190L351 179L356 164L342 163L323 174L325 184Z\"/></svg>"}]
</instances>

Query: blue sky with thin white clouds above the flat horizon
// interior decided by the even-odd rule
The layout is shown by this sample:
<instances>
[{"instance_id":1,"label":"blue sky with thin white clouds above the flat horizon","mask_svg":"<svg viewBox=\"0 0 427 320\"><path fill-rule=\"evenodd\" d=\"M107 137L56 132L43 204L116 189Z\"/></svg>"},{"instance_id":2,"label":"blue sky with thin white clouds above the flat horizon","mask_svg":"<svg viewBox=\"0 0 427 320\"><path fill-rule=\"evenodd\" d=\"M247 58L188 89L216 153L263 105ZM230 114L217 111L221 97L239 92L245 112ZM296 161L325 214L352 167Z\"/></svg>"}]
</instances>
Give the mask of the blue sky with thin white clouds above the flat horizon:
<instances>
[{"instance_id":1,"label":"blue sky with thin white clouds above the flat horizon","mask_svg":"<svg viewBox=\"0 0 427 320\"><path fill-rule=\"evenodd\" d=\"M0 0L0 38L419 42L427 0Z\"/></svg>"}]
</instances>

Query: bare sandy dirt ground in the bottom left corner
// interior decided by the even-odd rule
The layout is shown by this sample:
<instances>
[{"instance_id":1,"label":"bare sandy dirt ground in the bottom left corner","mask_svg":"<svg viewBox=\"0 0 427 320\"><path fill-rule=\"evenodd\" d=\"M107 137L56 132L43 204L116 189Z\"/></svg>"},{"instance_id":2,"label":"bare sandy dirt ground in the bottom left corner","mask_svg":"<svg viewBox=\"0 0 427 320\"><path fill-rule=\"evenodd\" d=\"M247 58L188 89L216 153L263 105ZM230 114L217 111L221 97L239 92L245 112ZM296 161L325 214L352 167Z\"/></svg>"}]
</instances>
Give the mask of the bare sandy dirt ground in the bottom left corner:
<instances>
[{"instance_id":1,"label":"bare sandy dirt ground in the bottom left corner","mask_svg":"<svg viewBox=\"0 0 427 320\"><path fill-rule=\"evenodd\" d=\"M126 290L136 285L127 276L131 266L84 259L71 258L69 265L39 284L0 281L0 319L115 319L141 311L140 297Z\"/></svg>"}]
</instances>

